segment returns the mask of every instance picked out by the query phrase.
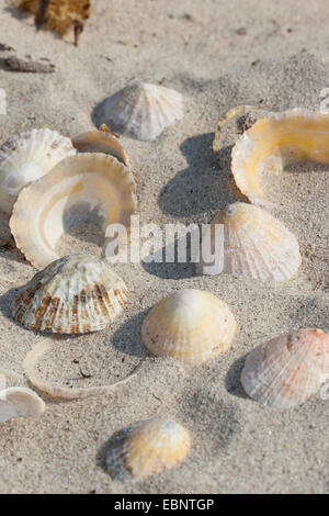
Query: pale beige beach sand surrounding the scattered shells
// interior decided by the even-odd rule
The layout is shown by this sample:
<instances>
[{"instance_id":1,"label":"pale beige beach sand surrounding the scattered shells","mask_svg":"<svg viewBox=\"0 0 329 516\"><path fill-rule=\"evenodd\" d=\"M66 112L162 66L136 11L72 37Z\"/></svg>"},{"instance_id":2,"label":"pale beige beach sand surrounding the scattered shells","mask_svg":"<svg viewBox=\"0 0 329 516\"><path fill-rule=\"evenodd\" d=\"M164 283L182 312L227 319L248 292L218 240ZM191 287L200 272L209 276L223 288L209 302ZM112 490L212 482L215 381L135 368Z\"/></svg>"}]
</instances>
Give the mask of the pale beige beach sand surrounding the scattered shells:
<instances>
[{"instance_id":1,"label":"pale beige beach sand surrounding the scattered shells","mask_svg":"<svg viewBox=\"0 0 329 516\"><path fill-rule=\"evenodd\" d=\"M54 74L23 74L0 65L0 142L41 127L71 137L93 128L94 108L132 77L161 81L184 96L184 117L151 143L122 137L140 223L208 223L229 202L246 201L229 168L229 134L222 168L212 149L220 115L238 104L318 111L329 88L328 16L321 0L299 0L298 9L293 0L94 0L75 47L71 33L36 33L31 16L0 0L0 43L56 66ZM0 51L0 58L9 54ZM328 192L328 166L316 164L288 167L273 186L275 215L297 236L303 257L288 282L194 276L190 263L114 266L129 290L124 314L100 333L56 337L39 372L64 385L101 385L141 362L136 378L111 396L65 402L41 394L47 410L38 420L2 424L0 492L328 493L329 400L315 395L277 412L248 399L239 382L259 344L300 327L329 329ZM65 245L100 254L78 234ZM35 272L13 246L0 248L0 363L20 374L25 354L45 336L16 325L9 307ZM155 358L139 336L148 310L183 288L213 292L238 321L232 348L202 366ZM112 480L104 464L111 436L168 414L190 430L186 460L143 483Z\"/></svg>"}]
</instances>

